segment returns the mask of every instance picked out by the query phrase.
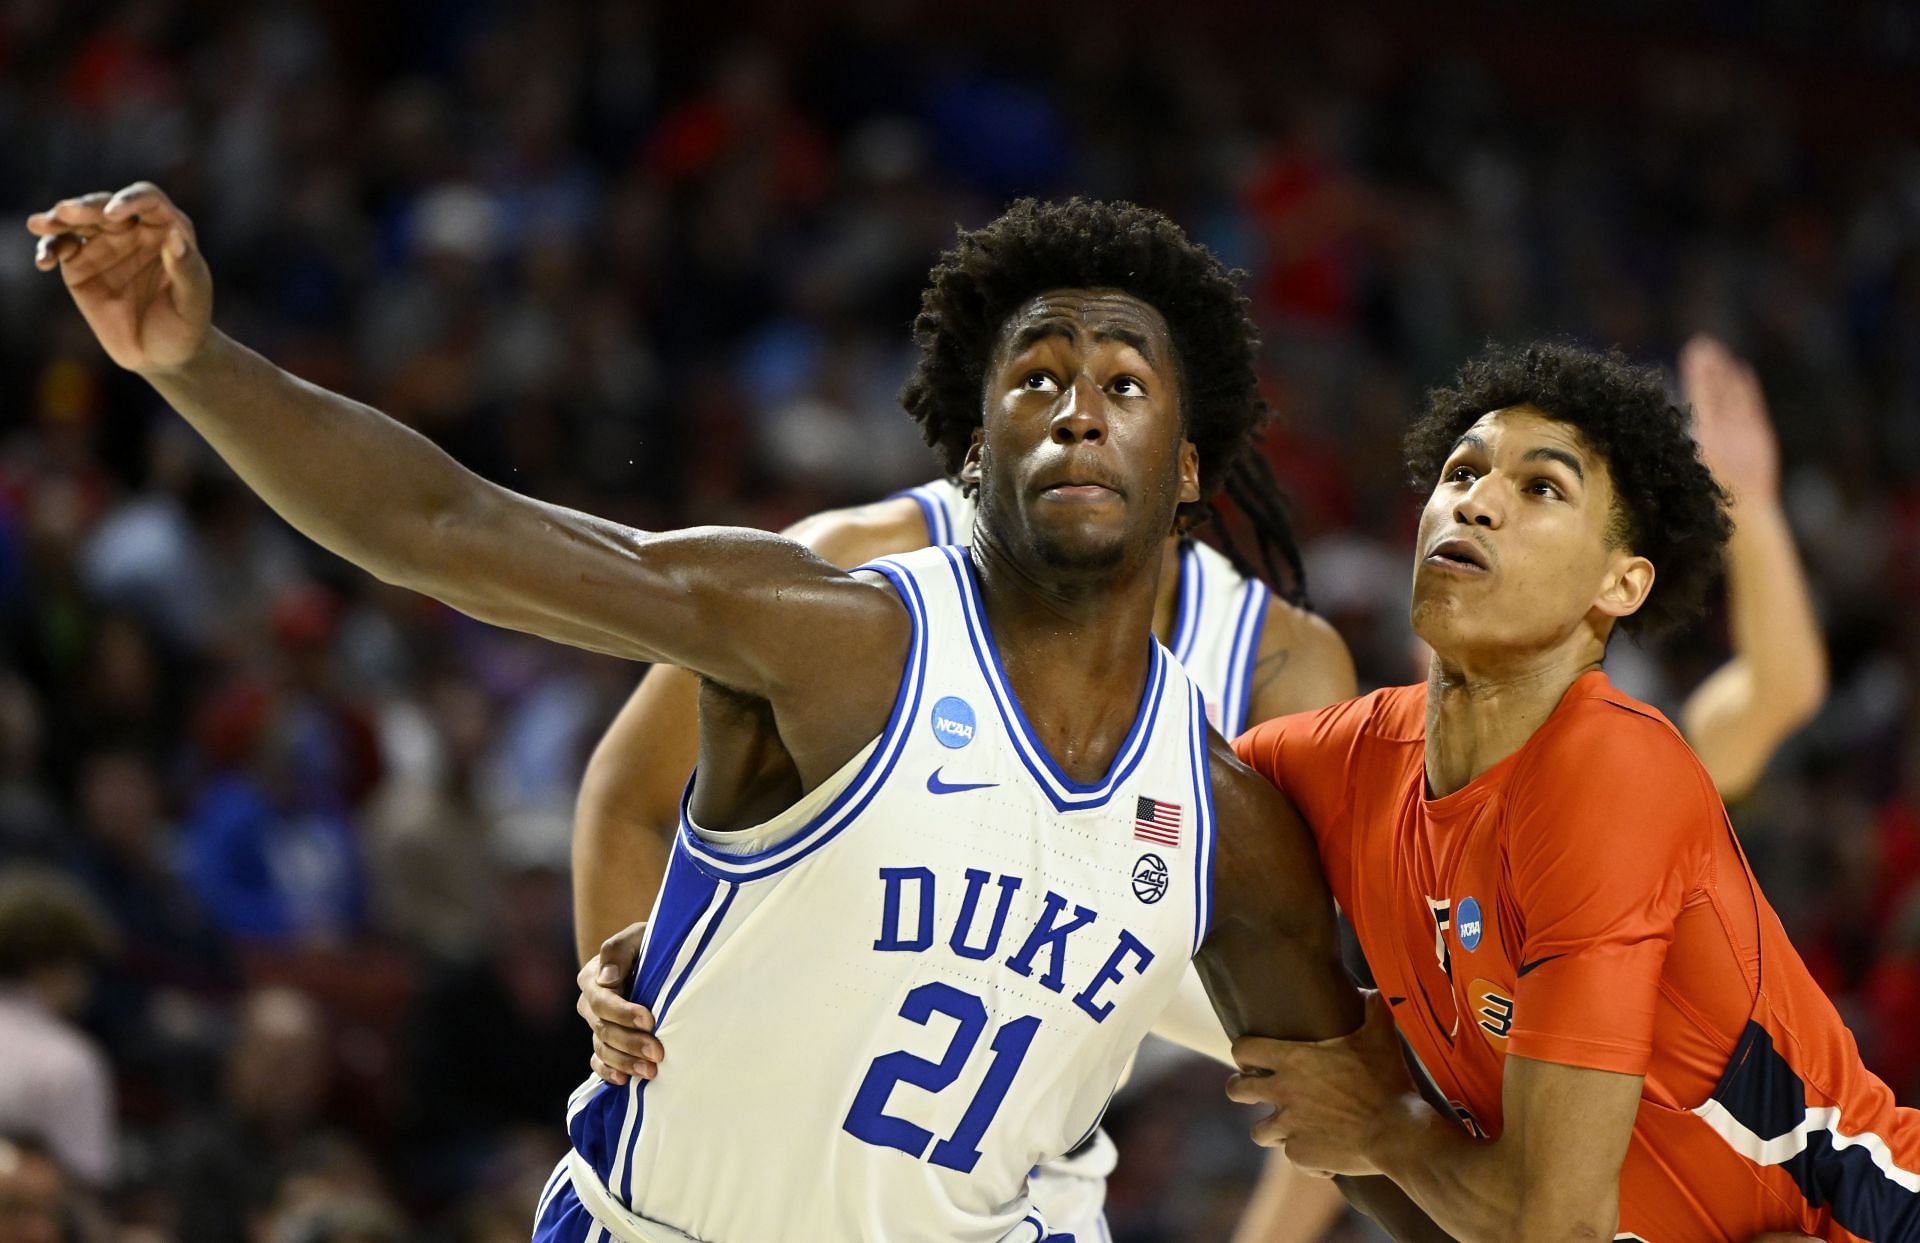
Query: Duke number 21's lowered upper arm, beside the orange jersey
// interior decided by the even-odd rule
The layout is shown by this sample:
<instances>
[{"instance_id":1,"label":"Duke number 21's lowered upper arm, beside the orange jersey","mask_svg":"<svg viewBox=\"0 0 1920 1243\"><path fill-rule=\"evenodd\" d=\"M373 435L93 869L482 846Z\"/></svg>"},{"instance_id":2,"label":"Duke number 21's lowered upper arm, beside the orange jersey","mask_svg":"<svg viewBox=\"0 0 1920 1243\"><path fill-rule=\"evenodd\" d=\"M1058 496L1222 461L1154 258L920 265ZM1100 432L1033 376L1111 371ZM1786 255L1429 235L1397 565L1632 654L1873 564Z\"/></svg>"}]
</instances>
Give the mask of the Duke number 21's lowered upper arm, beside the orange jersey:
<instances>
[{"instance_id":1,"label":"Duke number 21's lowered upper arm, beside the orange jersey","mask_svg":"<svg viewBox=\"0 0 1920 1243\"><path fill-rule=\"evenodd\" d=\"M1194 966L1227 1036L1329 1039L1359 1026L1332 895L1292 805L1215 736L1213 918Z\"/></svg>"}]
</instances>

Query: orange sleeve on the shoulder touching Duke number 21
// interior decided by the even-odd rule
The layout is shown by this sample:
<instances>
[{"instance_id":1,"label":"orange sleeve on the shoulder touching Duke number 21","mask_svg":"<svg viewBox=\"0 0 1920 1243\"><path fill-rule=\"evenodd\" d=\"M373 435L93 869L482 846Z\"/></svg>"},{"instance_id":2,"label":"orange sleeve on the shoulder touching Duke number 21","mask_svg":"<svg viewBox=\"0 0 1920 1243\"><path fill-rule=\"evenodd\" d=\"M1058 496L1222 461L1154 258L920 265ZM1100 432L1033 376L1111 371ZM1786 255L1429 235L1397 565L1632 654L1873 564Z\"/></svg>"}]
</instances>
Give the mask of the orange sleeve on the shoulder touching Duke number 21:
<instances>
[{"instance_id":1,"label":"orange sleeve on the shoulder touching Duke number 21","mask_svg":"<svg viewBox=\"0 0 1920 1243\"><path fill-rule=\"evenodd\" d=\"M1354 751L1367 720L1365 699L1332 703L1311 713L1261 720L1233 740L1240 763L1279 786L1313 830L1327 884L1340 907L1350 907L1352 865L1348 815Z\"/></svg>"}]
</instances>

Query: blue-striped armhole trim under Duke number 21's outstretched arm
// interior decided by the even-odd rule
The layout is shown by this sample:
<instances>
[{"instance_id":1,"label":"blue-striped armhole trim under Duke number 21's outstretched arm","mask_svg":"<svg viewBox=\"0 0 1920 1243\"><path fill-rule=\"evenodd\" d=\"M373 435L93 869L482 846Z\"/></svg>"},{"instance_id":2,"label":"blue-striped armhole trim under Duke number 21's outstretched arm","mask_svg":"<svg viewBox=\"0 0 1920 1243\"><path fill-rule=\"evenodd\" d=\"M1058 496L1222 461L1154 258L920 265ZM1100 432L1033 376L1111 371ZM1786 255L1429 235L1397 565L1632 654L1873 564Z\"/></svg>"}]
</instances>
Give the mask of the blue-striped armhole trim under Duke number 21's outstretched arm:
<instances>
[{"instance_id":1,"label":"blue-striped armhole trim under Duke number 21's outstretched arm","mask_svg":"<svg viewBox=\"0 0 1920 1243\"><path fill-rule=\"evenodd\" d=\"M708 841L701 840L693 832L693 822L687 816L687 803L693 797L693 782L687 782L685 793L680 795L680 843L687 849L687 857L708 876L718 876L720 880L732 880L745 884L749 880L762 880L776 872L781 872L801 859L806 859L816 849L837 838L849 824L852 824L874 795L887 784L893 774L893 767L900 761L900 753L906 749L906 740L912 734L912 722L920 713L920 692L925 688L927 674L927 607L920 596L920 584L914 582L910 573L904 573L889 559L870 561L862 571L876 571L885 574L893 584L893 590L900 594L900 601L906 603L906 613L914 622L914 644L906 653L906 669L900 672L900 690L893 697L893 715L887 717L887 726L879 732L879 742L874 745L874 753L866 757L866 765L860 772L847 782L826 809L820 811L804 828L793 836L776 841L764 851L755 851L749 855L730 855L716 849Z\"/></svg>"}]
</instances>

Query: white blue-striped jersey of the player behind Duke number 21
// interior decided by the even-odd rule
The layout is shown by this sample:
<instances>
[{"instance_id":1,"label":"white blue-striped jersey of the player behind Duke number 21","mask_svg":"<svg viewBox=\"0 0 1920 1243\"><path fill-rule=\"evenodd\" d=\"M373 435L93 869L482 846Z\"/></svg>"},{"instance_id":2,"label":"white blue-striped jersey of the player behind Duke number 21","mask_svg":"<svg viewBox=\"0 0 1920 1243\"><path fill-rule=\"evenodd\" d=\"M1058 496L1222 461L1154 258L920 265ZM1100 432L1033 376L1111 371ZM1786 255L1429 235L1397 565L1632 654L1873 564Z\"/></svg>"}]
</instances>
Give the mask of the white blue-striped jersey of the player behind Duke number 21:
<instances>
[{"instance_id":1,"label":"white blue-striped jersey of the player behind Duke number 21","mask_svg":"<svg viewBox=\"0 0 1920 1243\"><path fill-rule=\"evenodd\" d=\"M968 544L973 538L973 498L960 484L937 478L899 496L920 505L929 544ZM1248 578L1223 553L1198 540L1181 540L1181 586L1167 647L1200 692L1213 728L1233 738L1248 726L1254 655L1267 622L1273 592Z\"/></svg>"}]
</instances>

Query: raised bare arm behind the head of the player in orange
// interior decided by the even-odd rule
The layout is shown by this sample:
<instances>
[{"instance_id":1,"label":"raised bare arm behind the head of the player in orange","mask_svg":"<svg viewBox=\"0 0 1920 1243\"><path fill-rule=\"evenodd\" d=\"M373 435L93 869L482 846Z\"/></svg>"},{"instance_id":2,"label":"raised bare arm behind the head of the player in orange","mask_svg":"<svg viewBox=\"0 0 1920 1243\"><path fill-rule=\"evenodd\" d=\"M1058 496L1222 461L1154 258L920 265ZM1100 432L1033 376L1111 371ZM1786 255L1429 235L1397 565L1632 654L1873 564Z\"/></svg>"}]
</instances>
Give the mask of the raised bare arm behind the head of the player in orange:
<instances>
[{"instance_id":1,"label":"raised bare arm behind the head of the player in orange","mask_svg":"<svg viewBox=\"0 0 1920 1243\"><path fill-rule=\"evenodd\" d=\"M1720 795L1738 799L1826 699L1826 644L1780 507L1780 450L1753 369L1711 336L1680 352L1701 455L1732 501L1726 605L1734 657L1680 709Z\"/></svg>"}]
</instances>

